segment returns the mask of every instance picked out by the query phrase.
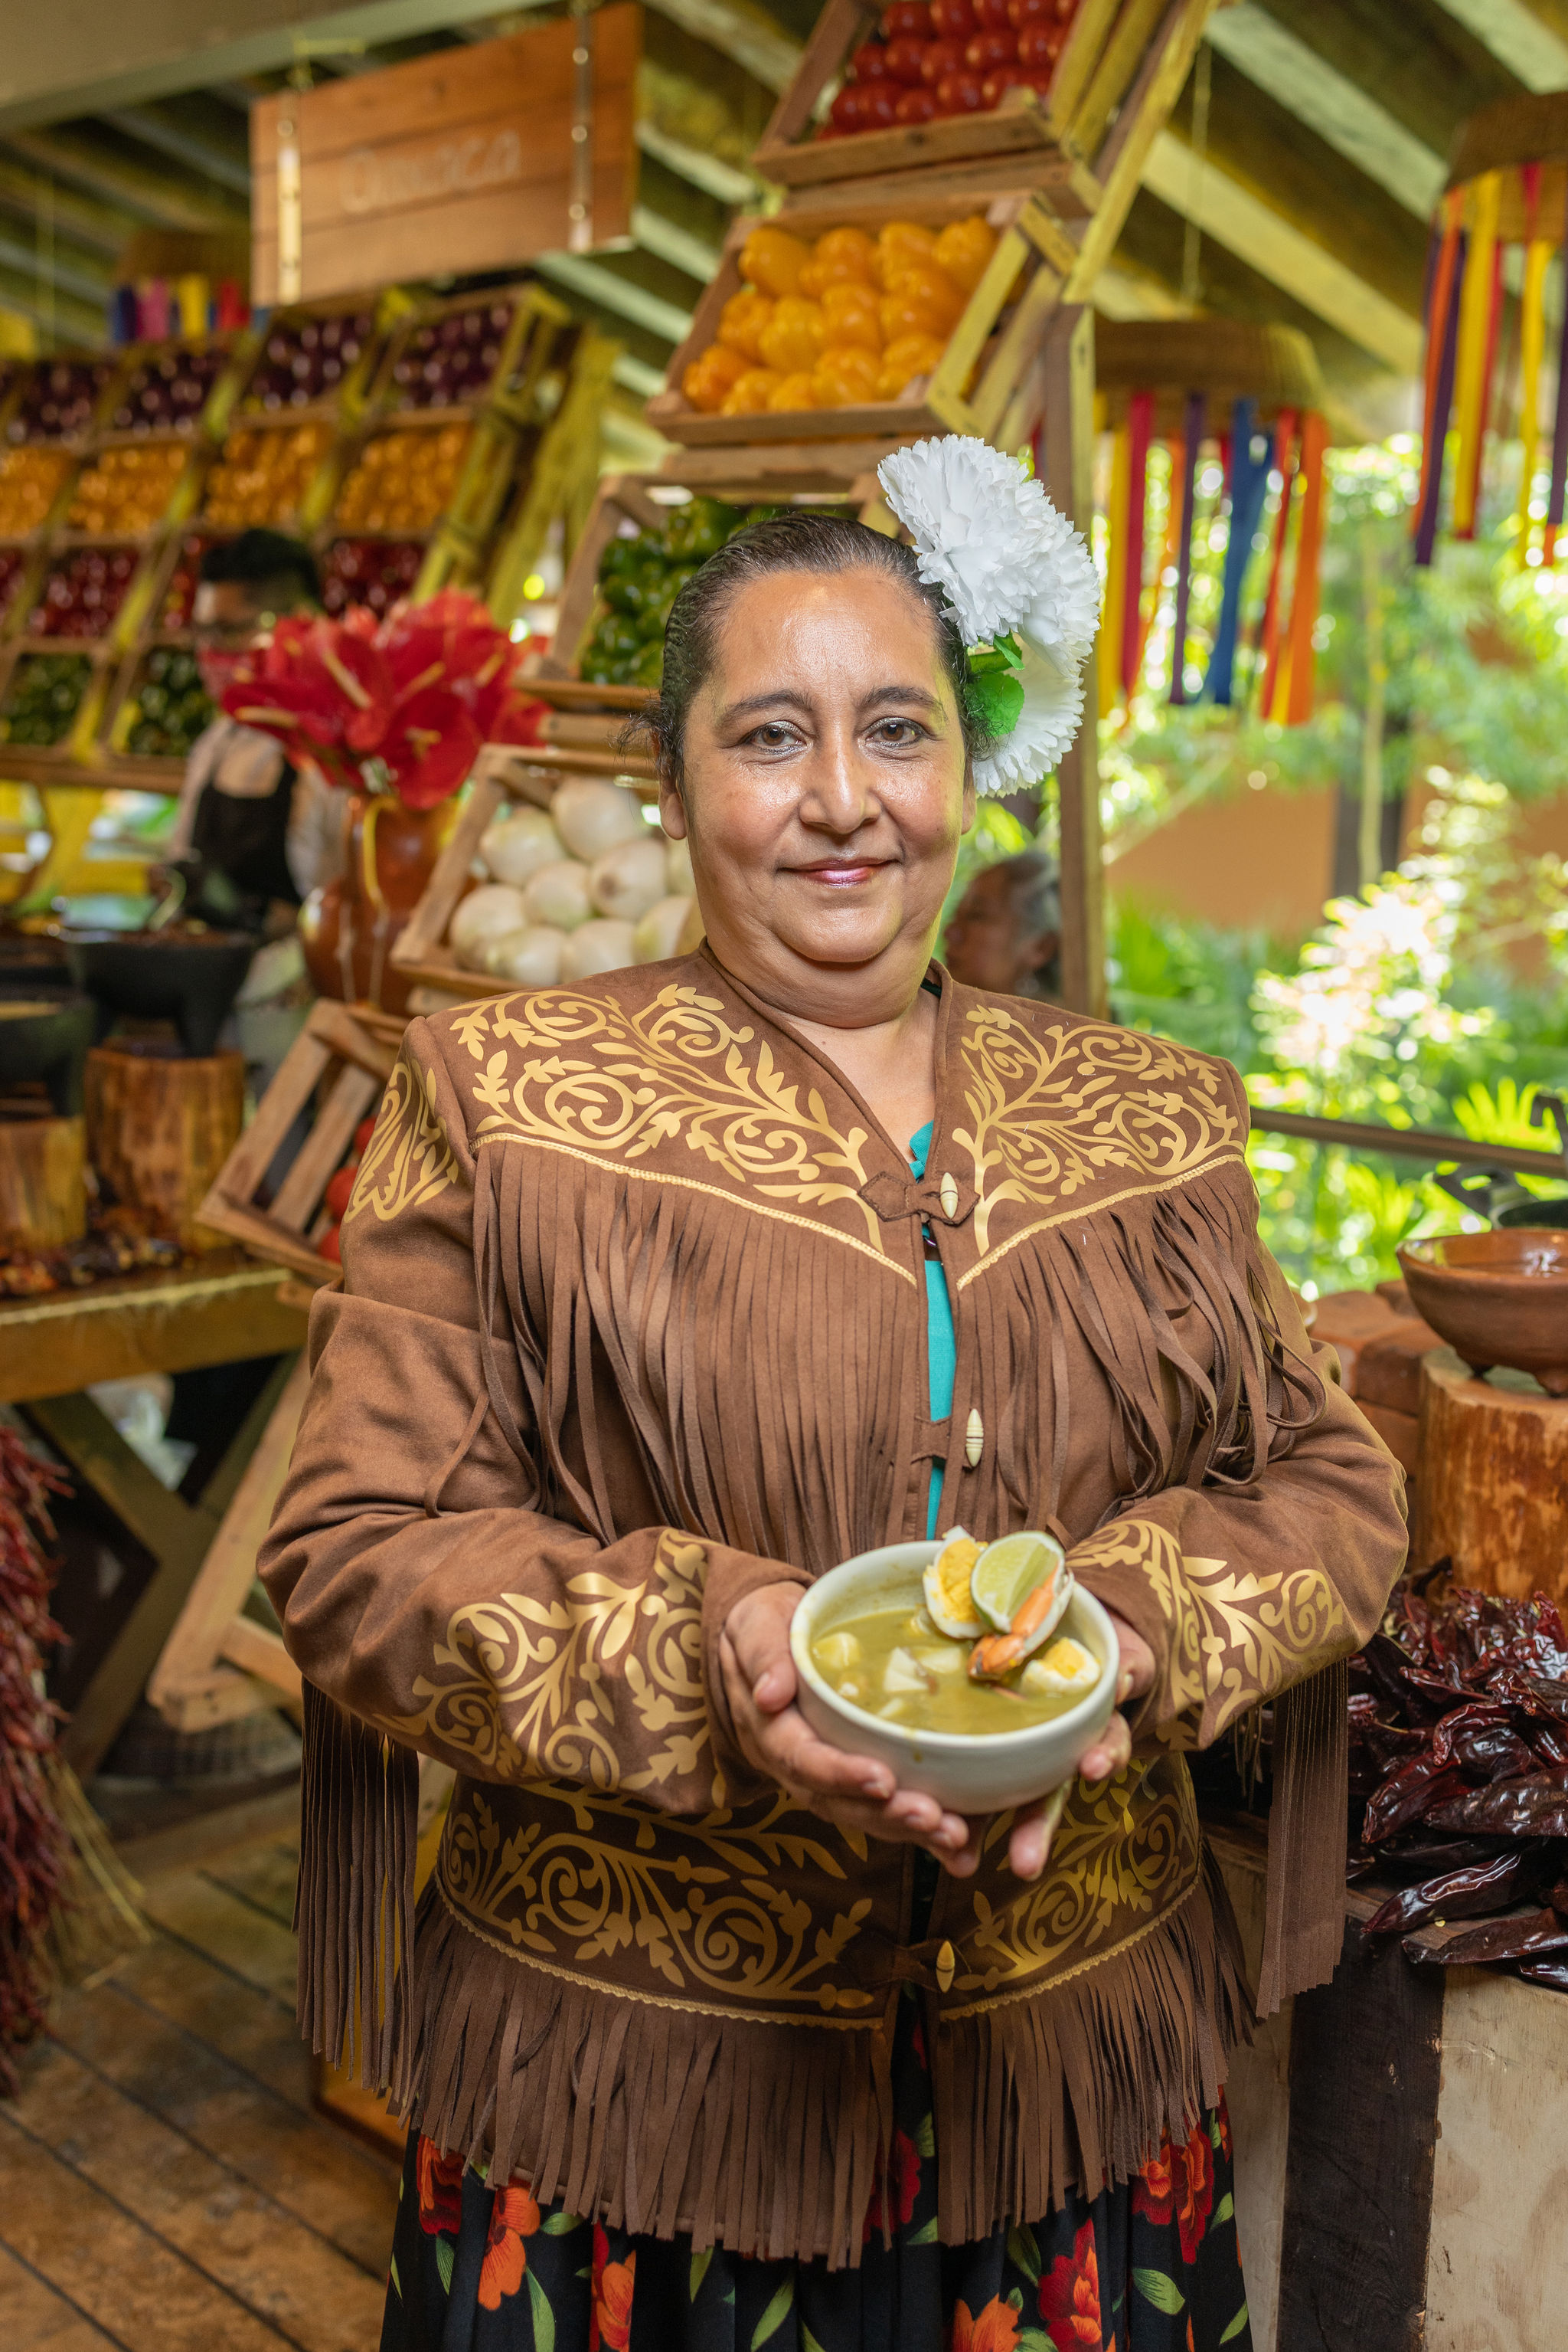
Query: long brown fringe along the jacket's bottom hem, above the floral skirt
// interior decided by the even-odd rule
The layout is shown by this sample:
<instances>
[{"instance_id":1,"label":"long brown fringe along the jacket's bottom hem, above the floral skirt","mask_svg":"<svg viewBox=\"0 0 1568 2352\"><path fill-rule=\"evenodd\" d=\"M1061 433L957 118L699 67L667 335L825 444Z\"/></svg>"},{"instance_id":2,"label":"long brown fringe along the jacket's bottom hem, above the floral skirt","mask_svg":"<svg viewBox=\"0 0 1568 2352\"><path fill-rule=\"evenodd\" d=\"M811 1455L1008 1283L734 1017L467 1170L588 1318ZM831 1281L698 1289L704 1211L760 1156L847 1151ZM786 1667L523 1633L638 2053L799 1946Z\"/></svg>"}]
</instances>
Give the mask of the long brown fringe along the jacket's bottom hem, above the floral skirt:
<instances>
[{"instance_id":1,"label":"long brown fringe along the jacket's bottom hem, above the floral skirt","mask_svg":"<svg viewBox=\"0 0 1568 2352\"><path fill-rule=\"evenodd\" d=\"M468 1929L437 1875L397 2112L494 2178L522 2176L541 2206L837 2270L860 2260L891 2145L893 2002L879 2027L766 2025L578 1985ZM950 2018L926 1994L926 2030L943 2244L1128 2178L1213 2105L1248 2032L1213 1865L1067 1983Z\"/></svg>"}]
</instances>

